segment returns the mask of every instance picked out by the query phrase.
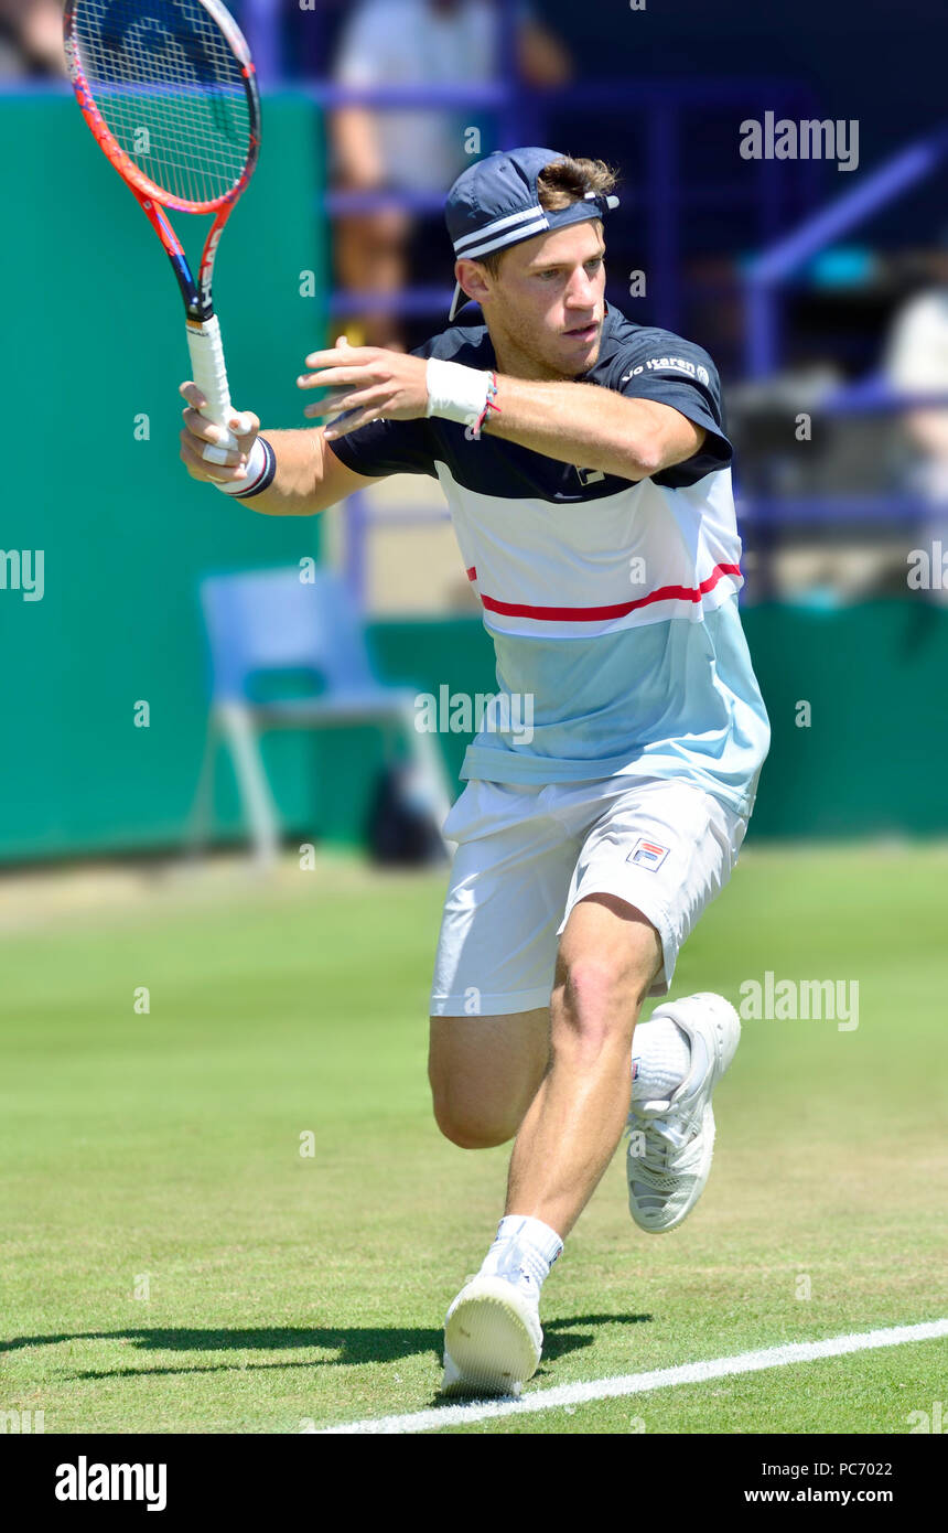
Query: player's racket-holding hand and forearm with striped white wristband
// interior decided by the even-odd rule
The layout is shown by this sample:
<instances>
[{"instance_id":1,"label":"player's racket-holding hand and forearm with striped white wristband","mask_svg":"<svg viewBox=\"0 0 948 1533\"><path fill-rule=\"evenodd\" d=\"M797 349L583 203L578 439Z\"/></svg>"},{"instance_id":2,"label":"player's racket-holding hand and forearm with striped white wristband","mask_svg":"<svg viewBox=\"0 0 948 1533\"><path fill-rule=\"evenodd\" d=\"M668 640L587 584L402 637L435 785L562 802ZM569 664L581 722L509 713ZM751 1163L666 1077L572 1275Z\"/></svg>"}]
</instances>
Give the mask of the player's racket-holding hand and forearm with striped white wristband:
<instances>
[{"instance_id":1,"label":"player's racket-holding hand and forearm with striped white wristband","mask_svg":"<svg viewBox=\"0 0 948 1533\"><path fill-rule=\"evenodd\" d=\"M181 432L181 460L191 478L204 484L250 486L248 463L260 435L257 417L234 414L236 451L227 452L224 463L208 463L204 449L216 446L222 432L199 414L205 400L196 383L182 383L179 392L188 403ZM276 455L276 472L270 486L247 504L266 517L314 517L374 483L348 469L329 451L322 431L266 431L265 440Z\"/></svg>"}]
</instances>

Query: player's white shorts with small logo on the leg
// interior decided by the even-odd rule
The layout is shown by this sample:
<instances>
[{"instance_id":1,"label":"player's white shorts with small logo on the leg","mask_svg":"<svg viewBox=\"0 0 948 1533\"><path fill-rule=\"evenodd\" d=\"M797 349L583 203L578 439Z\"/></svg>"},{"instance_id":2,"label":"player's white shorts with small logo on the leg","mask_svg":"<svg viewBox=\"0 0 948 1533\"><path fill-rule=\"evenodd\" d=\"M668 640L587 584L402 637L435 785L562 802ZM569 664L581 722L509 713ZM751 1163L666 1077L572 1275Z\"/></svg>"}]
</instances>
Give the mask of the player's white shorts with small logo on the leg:
<instances>
[{"instance_id":1,"label":"player's white shorts with small logo on the leg","mask_svg":"<svg viewBox=\"0 0 948 1533\"><path fill-rule=\"evenodd\" d=\"M444 825L458 842L444 901L432 1016L501 1016L550 1004L557 938L588 894L634 904L662 938L649 995L724 888L747 819L669 777L470 782Z\"/></svg>"}]
</instances>

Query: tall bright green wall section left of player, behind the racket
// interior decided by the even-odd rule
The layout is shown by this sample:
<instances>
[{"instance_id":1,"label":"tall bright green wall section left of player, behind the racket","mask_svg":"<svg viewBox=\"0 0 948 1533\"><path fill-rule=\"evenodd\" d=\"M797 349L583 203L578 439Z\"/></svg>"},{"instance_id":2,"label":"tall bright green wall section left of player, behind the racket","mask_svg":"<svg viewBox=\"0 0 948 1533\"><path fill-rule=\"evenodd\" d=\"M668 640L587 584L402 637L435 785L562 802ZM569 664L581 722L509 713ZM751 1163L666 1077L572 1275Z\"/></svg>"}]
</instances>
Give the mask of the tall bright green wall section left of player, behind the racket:
<instances>
[{"instance_id":1,"label":"tall bright green wall section left of player, behind the racket","mask_svg":"<svg viewBox=\"0 0 948 1533\"><path fill-rule=\"evenodd\" d=\"M325 294L323 158L312 107L268 98L260 166L221 245L234 402L271 425L303 423L294 379L325 339L300 279ZM204 728L198 579L314 553L319 523L256 515L185 475L178 287L72 95L0 98L0 549L44 553L32 602L0 560L0 857L161 843L181 832ZM188 251L208 222L178 219Z\"/></svg>"}]
</instances>

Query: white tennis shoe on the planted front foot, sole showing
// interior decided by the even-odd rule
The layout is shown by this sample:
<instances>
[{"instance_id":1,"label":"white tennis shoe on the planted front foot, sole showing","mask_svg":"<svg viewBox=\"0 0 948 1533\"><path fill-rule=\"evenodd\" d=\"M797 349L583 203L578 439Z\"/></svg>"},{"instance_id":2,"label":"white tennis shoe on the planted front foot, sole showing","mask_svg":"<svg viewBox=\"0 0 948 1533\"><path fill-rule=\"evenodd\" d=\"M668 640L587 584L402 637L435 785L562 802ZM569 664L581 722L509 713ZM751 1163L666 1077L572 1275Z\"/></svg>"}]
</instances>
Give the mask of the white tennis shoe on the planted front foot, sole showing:
<instances>
[{"instance_id":1,"label":"white tennis shoe on the planted front foot, sole showing","mask_svg":"<svg viewBox=\"0 0 948 1533\"><path fill-rule=\"evenodd\" d=\"M478 1274L447 1311L441 1393L519 1395L542 1346L536 1280Z\"/></svg>"}]
</instances>

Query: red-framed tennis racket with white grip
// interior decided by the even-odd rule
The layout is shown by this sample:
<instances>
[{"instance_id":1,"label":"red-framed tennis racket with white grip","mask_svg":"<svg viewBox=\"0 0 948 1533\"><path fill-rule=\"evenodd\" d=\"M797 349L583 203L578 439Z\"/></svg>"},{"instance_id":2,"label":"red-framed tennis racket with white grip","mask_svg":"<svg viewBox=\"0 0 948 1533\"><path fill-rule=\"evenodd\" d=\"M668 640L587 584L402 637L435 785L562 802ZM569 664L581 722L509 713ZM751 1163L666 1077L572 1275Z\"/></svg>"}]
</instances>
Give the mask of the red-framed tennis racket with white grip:
<instances>
[{"instance_id":1,"label":"red-framed tennis racket with white grip","mask_svg":"<svg viewBox=\"0 0 948 1533\"><path fill-rule=\"evenodd\" d=\"M69 75L95 140L138 198L175 268L201 414L236 448L211 282L221 235L260 152L260 94L250 49L217 0L66 0ZM213 213L198 282L167 218Z\"/></svg>"}]
</instances>

